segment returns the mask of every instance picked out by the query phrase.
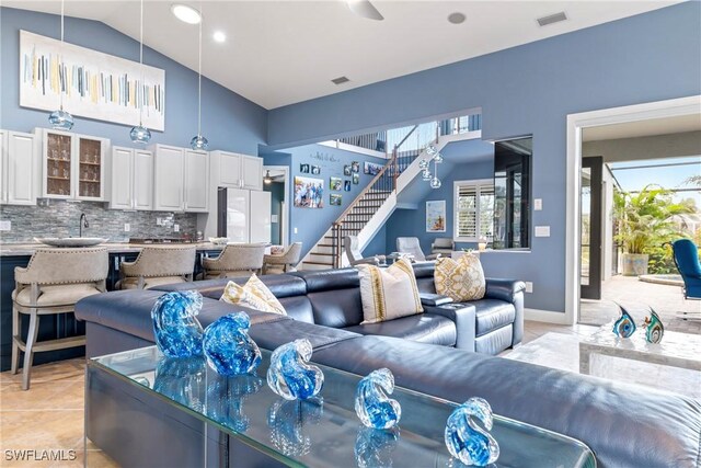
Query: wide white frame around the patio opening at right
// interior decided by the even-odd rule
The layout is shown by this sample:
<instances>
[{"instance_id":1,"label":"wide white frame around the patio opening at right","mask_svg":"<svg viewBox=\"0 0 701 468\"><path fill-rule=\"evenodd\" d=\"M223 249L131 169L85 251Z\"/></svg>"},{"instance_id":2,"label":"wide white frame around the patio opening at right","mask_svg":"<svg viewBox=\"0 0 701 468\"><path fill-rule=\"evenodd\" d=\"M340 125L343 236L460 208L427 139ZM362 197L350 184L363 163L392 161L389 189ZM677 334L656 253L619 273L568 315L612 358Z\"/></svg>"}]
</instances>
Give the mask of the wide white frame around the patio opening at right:
<instances>
[{"instance_id":1,"label":"wide white frame around the patio opening at right","mask_svg":"<svg viewBox=\"0 0 701 468\"><path fill-rule=\"evenodd\" d=\"M565 323L574 324L579 311L582 129L690 114L701 114L701 95L567 115Z\"/></svg>"}]
</instances>

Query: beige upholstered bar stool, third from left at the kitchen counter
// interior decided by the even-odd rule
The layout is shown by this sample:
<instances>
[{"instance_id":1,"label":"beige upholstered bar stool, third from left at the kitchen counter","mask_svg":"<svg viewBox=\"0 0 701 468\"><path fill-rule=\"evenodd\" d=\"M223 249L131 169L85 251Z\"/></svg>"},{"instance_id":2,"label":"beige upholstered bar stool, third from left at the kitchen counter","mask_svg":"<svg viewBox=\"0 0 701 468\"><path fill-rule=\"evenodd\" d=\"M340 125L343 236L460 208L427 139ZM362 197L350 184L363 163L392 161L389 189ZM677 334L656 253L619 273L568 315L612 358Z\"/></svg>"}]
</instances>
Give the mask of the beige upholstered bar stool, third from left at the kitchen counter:
<instances>
[{"instance_id":1,"label":"beige upholstered bar stool, third from left at the kitchen counter","mask_svg":"<svg viewBox=\"0 0 701 468\"><path fill-rule=\"evenodd\" d=\"M202 259L203 279L251 276L263 270L264 243L230 243L216 259Z\"/></svg>"}]
</instances>

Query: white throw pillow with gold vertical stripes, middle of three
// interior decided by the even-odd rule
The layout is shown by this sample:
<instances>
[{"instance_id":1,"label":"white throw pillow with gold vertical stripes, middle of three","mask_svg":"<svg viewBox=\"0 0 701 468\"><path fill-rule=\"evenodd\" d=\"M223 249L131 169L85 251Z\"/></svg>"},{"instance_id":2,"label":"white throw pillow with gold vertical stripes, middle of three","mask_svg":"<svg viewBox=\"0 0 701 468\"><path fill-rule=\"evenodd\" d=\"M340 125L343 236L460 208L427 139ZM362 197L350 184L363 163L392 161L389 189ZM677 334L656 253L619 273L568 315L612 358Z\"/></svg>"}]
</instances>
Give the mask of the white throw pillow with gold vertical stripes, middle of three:
<instances>
[{"instance_id":1,"label":"white throw pillow with gold vertical stripes, middle of three","mask_svg":"<svg viewBox=\"0 0 701 468\"><path fill-rule=\"evenodd\" d=\"M377 323L421 313L418 287L414 269L406 259L400 259L389 269L358 265L363 323Z\"/></svg>"}]
</instances>

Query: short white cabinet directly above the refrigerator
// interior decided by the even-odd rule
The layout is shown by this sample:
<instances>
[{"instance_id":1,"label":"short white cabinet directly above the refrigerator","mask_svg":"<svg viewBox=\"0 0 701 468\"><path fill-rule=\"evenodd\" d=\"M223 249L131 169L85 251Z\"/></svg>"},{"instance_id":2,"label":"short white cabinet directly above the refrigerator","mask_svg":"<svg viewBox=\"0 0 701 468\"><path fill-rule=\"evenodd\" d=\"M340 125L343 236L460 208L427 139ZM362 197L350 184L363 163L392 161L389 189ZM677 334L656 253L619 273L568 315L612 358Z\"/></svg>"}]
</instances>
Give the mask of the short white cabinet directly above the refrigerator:
<instances>
[{"instance_id":1,"label":"short white cabinet directly above the refrigerator","mask_svg":"<svg viewBox=\"0 0 701 468\"><path fill-rule=\"evenodd\" d=\"M215 187L263 190L263 158L212 151L211 181Z\"/></svg>"}]
</instances>

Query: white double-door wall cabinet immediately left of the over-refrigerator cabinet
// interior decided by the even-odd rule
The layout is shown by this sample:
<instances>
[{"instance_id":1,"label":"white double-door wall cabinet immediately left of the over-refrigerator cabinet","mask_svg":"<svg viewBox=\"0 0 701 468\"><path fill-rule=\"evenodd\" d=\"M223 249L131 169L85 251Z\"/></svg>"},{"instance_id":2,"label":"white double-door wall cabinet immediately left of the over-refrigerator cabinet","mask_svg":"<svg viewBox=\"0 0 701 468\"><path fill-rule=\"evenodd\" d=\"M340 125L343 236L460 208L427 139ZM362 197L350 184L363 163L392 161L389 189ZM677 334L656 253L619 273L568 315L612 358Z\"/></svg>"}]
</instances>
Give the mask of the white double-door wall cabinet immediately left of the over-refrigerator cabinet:
<instances>
[{"instance_id":1,"label":"white double-door wall cabinet immediately left of the over-refrigerator cabinet","mask_svg":"<svg viewBox=\"0 0 701 468\"><path fill-rule=\"evenodd\" d=\"M153 209L207 212L209 153L166 145L153 148Z\"/></svg>"}]
</instances>

